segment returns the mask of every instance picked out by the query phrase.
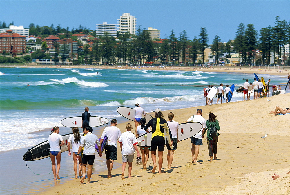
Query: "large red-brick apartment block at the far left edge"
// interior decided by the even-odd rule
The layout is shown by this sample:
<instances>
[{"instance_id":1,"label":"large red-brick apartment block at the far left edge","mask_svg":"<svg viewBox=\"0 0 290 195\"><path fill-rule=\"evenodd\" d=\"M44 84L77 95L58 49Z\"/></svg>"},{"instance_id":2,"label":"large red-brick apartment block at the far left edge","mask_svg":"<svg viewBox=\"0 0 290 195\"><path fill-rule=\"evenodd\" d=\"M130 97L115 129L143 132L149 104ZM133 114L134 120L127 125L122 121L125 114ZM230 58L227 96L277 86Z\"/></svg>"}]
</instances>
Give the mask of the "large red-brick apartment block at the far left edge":
<instances>
[{"instance_id":1,"label":"large red-brick apartment block at the far left edge","mask_svg":"<svg viewBox=\"0 0 290 195\"><path fill-rule=\"evenodd\" d=\"M0 33L0 53L5 51L8 54L13 54L13 56L25 53L25 43L25 36L13 33L10 29Z\"/></svg>"}]
</instances>

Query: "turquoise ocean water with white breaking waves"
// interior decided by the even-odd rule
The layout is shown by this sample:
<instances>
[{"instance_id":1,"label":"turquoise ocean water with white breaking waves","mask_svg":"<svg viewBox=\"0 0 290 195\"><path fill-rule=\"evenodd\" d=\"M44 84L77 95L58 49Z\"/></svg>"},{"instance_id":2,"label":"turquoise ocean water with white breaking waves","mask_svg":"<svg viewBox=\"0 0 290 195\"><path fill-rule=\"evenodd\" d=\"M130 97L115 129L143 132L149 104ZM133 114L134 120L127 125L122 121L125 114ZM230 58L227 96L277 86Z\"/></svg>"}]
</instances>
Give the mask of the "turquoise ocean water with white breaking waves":
<instances>
[{"instance_id":1,"label":"turquoise ocean water with white breaking waves","mask_svg":"<svg viewBox=\"0 0 290 195\"><path fill-rule=\"evenodd\" d=\"M281 76L258 76L270 78L273 84L286 82ZM254 75L138 68L1 68L0 151L32 147L45 141L46 133L35 132L49 131L54 126L60 127L61 134L70 133L71 129L63 127L61 120L80 116L86 106L91 115L124 120L116 111L118 106L134 108L139 103L149 112L157 107L168 110L205 105L204 86L180 85L223 83L224 87L235 84L237 88L246 78L250 82ZM234 92L231 101L240 100L242 95ZM99 131L97 135L102 129ZM15 136L21 136L19 144L14 144Z\"/></svg>"}]
</instances>

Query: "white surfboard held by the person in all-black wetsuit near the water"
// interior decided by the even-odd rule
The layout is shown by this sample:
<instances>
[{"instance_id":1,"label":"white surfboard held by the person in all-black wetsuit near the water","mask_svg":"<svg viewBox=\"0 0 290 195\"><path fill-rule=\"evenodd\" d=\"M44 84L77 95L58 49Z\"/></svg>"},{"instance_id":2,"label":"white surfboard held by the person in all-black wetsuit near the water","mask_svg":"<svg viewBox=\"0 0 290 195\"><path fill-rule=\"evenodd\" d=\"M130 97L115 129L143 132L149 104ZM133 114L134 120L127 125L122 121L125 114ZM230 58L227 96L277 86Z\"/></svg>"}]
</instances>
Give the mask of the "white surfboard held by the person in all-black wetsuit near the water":
<instances>
[{"instance_id":1,"label":"white surfboard held by the person in all-black wetsuit near the water","mask_svg":"<svg viewBox=\"0 0 290 195\"><path fill-rule=\"evenodd\" d=\"M99 116L90 116L90 126L91 127L99 127L101 125L107 124L109 119L99 117ZM81 128L81 116L64 118L61 120L61 124L65 127L78 127Z\"/></svg>"}]
</instances>

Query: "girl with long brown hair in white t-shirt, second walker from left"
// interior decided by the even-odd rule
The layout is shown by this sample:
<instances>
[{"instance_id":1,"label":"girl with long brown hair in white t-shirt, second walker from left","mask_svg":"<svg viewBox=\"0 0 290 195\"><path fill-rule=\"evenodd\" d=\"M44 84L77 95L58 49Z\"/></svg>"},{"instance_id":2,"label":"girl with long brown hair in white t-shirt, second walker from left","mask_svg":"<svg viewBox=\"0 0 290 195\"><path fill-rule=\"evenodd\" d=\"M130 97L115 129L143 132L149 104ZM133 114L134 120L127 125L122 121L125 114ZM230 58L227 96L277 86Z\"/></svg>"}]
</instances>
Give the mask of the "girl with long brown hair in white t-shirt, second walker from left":
<instances>
[{"instance_id":1,"label":"girl with long brown hair in white t-shirt, second walker from left","mask_svg":"<svg viewBox=\"0 0 290 195\"><path fill-rule=\"evenodd\" d=\"M77 179L77 152L79 150L79 145L81 144L81 136L79 134L79 128L73 127L72 128L73 134L70 135L68 138L68 156L71 156L73 154L73 170L75 171L75 179ZM72 145L72 151L70 151L70 144ZM81 177L81 156L79 156L79 176Z\"/></svg>"}]
</instances>

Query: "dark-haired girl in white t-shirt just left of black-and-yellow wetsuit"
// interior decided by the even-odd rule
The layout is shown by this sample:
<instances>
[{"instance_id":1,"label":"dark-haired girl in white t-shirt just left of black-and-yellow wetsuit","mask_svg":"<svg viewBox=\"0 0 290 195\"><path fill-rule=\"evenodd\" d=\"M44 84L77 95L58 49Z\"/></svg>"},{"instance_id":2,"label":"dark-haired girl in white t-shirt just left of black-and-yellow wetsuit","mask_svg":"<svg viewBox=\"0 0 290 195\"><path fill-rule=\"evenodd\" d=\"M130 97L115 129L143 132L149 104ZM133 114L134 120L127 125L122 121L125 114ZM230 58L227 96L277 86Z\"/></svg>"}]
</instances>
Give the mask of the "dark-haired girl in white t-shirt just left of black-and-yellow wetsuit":
<instances>
[{"instance_id":1,"label":"dark-haired girl in white t-shirt just left of black-and-yellow wetsuit","mask_svg":"<svg viewBox=\"0 0 290 195\"><path fill-rule=\"evenodd\" d=\"M145 127L145 124L146 124L146 118L143 117L140 119L140 123L141 125L139 125L137 127L137 131L136 131L136 137L139 137L139 136L142 136L144 135L145 133L148 133L150 131L150 128L148 127L147 131L144 130L144 127ZM146 147L146 146L139 146L140 148L140 151L141 151L141 156L142 156L142 159L141 161L138 161L139 165L143 165L143 170L146 170L147 169L147 161L149 159L149 148L150 147ZM136 165L137 165L137 161L136 161Z\"/></svg>"}]
</instances>

